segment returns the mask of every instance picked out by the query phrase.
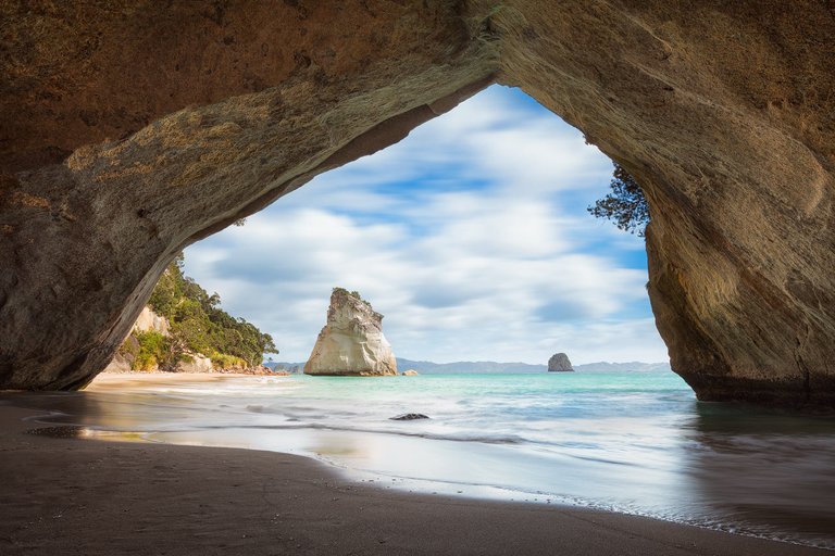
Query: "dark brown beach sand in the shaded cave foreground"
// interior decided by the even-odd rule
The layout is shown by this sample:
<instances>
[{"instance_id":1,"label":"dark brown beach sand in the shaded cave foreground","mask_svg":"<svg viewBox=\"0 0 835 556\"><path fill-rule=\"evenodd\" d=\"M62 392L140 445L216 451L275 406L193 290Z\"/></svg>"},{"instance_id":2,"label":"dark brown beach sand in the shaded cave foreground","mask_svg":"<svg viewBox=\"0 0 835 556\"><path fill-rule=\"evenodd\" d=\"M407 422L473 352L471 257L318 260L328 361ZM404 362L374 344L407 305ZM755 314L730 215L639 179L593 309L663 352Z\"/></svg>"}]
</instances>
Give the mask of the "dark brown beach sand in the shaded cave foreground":
<instances>
[{"instance_id":1,"label":"dark brown beach sand in the shaded cave foreground","mask_svg":"<svg viewBox=\"0 0 835 556\"><path fill-rule=\"evenodd\" d=\"M0 554L832 554L564 506L415 495L273 453L25 433L0 406ZM72 435L70 435L72 437Z\"/></svg>"}]
</instances>

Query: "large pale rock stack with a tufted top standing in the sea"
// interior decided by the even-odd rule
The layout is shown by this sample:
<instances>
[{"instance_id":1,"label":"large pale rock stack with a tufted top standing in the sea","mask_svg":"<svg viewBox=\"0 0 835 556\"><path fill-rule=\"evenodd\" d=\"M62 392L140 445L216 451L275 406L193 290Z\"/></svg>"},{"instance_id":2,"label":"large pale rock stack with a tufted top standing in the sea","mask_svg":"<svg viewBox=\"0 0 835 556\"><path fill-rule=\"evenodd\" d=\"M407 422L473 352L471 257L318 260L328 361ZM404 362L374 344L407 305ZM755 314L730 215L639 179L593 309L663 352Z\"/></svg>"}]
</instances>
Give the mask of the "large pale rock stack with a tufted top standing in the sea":
<instances>
[{"instance_id":1,"label":"large pale rock stack with a tufted top standing in the sea","mask_svg":"<svg viewBox=\"0 0 835 556\"><path fill-rule=\"evenodd\" d=\"M306 375L397 375L391 345L383 336L383 315L350 292L331 295L327 324L304 365Z\"/></svg>"}]
</instances>

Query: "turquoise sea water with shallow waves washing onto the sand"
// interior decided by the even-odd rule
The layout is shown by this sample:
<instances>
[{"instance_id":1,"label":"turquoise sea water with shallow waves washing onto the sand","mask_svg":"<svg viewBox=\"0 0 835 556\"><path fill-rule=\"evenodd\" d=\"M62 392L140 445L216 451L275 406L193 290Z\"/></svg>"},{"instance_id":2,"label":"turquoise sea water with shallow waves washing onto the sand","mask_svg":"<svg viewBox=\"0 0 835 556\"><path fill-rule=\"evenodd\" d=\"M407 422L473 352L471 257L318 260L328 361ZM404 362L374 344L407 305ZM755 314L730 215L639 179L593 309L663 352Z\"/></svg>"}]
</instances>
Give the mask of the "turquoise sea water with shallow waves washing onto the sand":
<instances>
[{"instance_id":1,"label":"turquoise sea water with shallow waves washing onto the sand","mask_svg":"<svg viewBox=\"0 0 835 556\"><path fill-rule=\"evenodd\" d=\"M3 394L88 437L273 450L348 478L835 548L835 419L696 401L672 372L109 376ZM392 420L406 413L428 419Z\"/></svg>"}]
</instances>

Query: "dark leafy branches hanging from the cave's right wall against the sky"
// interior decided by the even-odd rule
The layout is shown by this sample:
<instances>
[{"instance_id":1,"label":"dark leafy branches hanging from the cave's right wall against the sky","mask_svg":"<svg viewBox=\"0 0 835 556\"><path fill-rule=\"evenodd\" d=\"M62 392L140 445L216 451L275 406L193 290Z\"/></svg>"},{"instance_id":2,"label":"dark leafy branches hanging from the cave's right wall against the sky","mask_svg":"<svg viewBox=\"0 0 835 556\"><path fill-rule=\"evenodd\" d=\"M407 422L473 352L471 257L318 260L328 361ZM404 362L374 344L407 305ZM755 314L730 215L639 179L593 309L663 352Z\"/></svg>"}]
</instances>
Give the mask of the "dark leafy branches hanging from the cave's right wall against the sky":
<instances>
[{"instance_id":1,"label":"dark leafy branches hanging from the cave's right wall against the sky","mask_svg":"<svg viewBox=\"0 0 835 556\"><path fill-rule=\"evenodd\" d=\"M614 164L612 191L598 199L588 212L597 218L608 218L618 228L644 237L649 224L649 205L640 186L623 167Z\"/></svg>"}]
</instances>

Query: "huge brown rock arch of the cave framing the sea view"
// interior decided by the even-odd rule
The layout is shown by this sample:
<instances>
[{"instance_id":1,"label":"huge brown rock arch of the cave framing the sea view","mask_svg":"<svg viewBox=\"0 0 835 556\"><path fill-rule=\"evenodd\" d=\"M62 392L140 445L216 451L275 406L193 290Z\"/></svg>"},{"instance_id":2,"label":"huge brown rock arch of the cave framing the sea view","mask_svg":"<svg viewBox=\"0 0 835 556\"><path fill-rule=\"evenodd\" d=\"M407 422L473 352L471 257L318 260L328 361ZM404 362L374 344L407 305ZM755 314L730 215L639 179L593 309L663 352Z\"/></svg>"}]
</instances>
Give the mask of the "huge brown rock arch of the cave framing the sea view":
<instances>
[{"instance_id":1,"label":"huge brown rock arch of the cave framing the sea view","mask_svg":"<svg viewBox=\"0 0 835 556\"><path fill-rule=\"evenodd\" d=\"M710 400L835 405L823 0L3 2L0 383L75 388L184 245L522 87L644 185L649 293Z\"/></svg>"}]
</instances>

